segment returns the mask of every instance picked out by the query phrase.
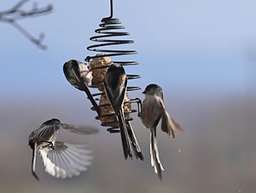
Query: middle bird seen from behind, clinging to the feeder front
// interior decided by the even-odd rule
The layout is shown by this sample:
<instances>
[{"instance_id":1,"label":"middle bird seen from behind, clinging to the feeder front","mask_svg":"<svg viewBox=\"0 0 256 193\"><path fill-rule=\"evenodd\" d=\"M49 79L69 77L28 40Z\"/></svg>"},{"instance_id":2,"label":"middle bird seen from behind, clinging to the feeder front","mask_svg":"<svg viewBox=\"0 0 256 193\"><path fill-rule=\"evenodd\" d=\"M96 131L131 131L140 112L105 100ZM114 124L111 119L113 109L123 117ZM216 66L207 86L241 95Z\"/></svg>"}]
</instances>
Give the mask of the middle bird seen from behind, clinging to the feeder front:
<instances>
[{"instance_id":1,"label":"middle bird seen from behind, clinging to the feeder front","mask_svg":"<svg viewBox=\"0 0 256 193\"><path fill-rule=\"evenodd\" d=\"M104 76L103 84L105 88L105 94L107 95L108 100L113 107L115 116L117 116L119 122L125 159L127 159L127 156L132 157L132 149L135 153L135 156L143 160L142 151L140 150L140 147L137 143L135 133L131 128L131 122L125 121L125 113L123 109L125 94L127 90L127 77L125 74L125 69L121 65L110 65Z\"/></svg>"}]
</instances>

